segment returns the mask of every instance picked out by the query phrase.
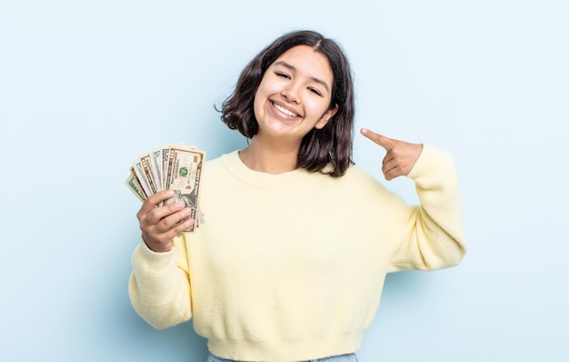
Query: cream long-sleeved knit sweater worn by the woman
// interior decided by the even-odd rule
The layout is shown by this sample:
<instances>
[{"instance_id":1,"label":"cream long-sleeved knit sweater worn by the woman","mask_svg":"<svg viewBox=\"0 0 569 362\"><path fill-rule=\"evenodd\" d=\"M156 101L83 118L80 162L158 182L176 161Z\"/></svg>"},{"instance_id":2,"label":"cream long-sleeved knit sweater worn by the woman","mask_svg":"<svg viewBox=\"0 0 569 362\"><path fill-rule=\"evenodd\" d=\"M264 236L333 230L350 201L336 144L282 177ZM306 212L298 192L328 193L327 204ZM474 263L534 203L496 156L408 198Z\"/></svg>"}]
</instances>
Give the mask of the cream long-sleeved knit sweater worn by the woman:
<instances>
[{"instance_id":1,"label":"cream long-sleeved knit sweater worn by the woman","mask_svg":"<svg viewBox=\"0 0 569 362\"><path fill-rule=\"evenodd\" d=\"M425 145L409 177L421 206L357 166L334 178L256 172L237 152L209 161L205 223L170 252L136 247L132 304L156 328L193 318L219 357L291 362L354 352L387 272L454 266L464 256L452 158Z\"/></svg>"}]
</instances>

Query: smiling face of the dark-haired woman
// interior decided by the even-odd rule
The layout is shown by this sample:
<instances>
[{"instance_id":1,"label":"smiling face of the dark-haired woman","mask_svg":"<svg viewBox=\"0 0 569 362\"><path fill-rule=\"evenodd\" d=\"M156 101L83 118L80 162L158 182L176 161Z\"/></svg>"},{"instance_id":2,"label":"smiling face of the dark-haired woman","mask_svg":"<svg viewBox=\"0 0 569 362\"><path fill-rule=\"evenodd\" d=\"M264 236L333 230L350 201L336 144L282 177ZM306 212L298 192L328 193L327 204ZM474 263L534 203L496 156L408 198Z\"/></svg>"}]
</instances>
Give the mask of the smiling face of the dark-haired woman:
<instances>
[{"instance_id":1,"label":"smiling face of the dark-haired woman","mask_svg":"<svg viewBox=\"0 0 569 362\"><path fill-rule=\"evenodd\" d=\"M300 143L311 129L334 116L329 109L334 75L324 55L297 45L268 67L255 94L257 136L279 136Z\"/></svg>"}]
</instances>

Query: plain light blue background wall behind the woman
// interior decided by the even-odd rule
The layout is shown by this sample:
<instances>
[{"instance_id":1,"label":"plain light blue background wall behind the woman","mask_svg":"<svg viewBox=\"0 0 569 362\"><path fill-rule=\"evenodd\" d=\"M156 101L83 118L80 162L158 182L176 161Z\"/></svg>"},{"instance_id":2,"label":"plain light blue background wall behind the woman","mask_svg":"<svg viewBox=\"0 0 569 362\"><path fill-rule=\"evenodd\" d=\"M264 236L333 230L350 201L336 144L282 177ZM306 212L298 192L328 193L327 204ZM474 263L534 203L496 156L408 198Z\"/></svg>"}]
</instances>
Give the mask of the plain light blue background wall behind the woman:
<instances>
[{"instance_id":1,"label":"plain light blue background wall behind the woman","mask_svg":"<svg viewBox=\"0 0 569 362\"><path fill-rule=\"evenodd\" d=\"M130 306L123 182L154 146L245 146L213 106L301 27L344 45L356 127L452 153L464 193L464 263L389 276L360 361L569 360L568 18L562 0L2 1L0 360L205 360L191 322ZM380 177L382 149L354 142Z\"/></svg>"}]
</instances>

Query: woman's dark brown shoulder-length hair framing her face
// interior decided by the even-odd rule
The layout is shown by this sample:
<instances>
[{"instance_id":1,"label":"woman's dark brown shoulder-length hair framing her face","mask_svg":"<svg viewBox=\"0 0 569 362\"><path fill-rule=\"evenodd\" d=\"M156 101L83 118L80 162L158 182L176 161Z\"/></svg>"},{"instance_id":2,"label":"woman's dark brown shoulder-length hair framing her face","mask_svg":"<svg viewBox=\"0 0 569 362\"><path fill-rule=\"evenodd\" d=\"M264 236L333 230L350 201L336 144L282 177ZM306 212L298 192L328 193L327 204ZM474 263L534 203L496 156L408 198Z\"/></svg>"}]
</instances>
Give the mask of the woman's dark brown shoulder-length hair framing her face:
<instances>
[{"instance_id":1,"label":"woman's dark brown shoulder-length hair framing her face","mask_svg":"<svg viewBox=\"0 0 569 362\"><path fill-rule=\"evenodd\" d=\"M343 176L352 164L354 85L350 64L340 45L332 39L309 30L294 31L277 38L245 66L233 94L222 104L221 119L243 136L255 136L259 129L253 106L257 87L267 68L296 45L309 45L328 59L334 75L329 109L338 106L335 115L322 129L314 128L304 136L296 166L334 177Z\"/></svg>"}]
</instances>

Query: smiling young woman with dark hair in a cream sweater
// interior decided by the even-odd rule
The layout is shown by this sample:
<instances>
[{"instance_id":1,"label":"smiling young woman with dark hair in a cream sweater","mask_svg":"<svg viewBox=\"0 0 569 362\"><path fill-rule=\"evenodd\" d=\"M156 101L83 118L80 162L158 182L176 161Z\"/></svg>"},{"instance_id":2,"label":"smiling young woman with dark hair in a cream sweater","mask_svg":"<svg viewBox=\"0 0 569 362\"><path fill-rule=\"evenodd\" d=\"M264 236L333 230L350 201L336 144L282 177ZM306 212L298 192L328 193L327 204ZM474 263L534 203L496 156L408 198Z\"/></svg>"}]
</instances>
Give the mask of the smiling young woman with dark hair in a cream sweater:
<instances>
[{"instance_id":1,"label":"smiling young woman with dark hair in a cream sweater","mask_svg":"<svg viewBox=\"0 0 569 362\"><path fill-rule=\"evenodd\" d=\"M450 156L362 130L384 147L387 180L414 180L407 206L354 166L354 90L334 41L311 31L276 39L247 65L222 120L250 139L208 161L194 220L148 197L129 293L157 328L193 318L210 361L356 361L384 277L464 256Z\"/></svg>"}]
</instances>

